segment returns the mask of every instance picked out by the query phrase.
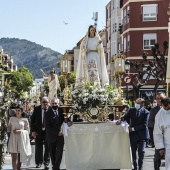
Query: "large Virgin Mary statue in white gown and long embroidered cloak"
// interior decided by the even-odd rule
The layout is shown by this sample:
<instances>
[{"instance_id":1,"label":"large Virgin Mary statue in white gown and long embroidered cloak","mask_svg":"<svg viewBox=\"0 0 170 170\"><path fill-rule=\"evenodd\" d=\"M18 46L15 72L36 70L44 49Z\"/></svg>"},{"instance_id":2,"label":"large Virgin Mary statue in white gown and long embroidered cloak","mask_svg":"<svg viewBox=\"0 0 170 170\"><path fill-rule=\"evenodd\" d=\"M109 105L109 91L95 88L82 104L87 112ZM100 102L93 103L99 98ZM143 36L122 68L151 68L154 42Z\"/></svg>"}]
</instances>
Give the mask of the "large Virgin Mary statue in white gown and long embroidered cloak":
<instances>
[{"instance_id":1,"label":"large Virgin Mary statue in white gown and long embroidered cloak","mask_svg":"<svg viewBox=\"0 0 170 170\"><path fill-rule=\"evenodd\" d=\"M103 44L93 25L89 26L80 45L75 86L82 86L86 82L102 87L109 85Z\"/></svg>"}]
</instances>

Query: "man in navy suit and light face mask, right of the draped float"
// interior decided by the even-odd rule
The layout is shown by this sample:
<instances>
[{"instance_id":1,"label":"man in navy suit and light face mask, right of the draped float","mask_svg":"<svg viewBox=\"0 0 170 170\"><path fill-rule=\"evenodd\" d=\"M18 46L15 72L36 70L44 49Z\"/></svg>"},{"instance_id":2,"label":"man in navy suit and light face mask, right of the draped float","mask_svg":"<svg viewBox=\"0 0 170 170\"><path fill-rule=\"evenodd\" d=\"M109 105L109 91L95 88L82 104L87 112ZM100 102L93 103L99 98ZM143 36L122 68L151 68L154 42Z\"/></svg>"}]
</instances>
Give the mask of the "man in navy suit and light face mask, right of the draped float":
<instances>
[{"instance_id":1,"label":"man in navy suit and light face mask, right of the draped float","mask_svg":"<svg viewBox=\"0 0 170 170\"><path fill-rule=\"evenodd\" d=\"M143 107L144 99L138 98L135 107L131 107L124 115L124 120L129 123L129 137L132 149L134 170L143 170L143 158L146 147L146 140L149 138L148 117L149 111ZM120 121L117 122L120 124ZM138 151L138 166L136 152Z\"/></svg>"}]
</instances>

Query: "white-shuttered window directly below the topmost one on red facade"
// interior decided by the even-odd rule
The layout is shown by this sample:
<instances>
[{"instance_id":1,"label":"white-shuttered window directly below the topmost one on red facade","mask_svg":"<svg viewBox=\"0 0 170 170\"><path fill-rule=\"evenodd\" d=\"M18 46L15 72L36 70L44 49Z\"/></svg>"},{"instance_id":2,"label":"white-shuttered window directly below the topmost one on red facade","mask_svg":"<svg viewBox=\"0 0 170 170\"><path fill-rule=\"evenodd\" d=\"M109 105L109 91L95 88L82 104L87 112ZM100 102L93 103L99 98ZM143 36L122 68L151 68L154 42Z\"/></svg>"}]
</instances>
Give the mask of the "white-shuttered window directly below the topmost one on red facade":
<instances>
[{"instance_id":1,"label":"white-shuttered window directly below the topmost one on red facade","mask_svg":"<svg viewBox=\"0 0 170 170\"><path fill-rule=\"evenodd\" d=\"M156 44L156 33L143 34L143 49L150 50Z\"/></svg>"}]
</instances>

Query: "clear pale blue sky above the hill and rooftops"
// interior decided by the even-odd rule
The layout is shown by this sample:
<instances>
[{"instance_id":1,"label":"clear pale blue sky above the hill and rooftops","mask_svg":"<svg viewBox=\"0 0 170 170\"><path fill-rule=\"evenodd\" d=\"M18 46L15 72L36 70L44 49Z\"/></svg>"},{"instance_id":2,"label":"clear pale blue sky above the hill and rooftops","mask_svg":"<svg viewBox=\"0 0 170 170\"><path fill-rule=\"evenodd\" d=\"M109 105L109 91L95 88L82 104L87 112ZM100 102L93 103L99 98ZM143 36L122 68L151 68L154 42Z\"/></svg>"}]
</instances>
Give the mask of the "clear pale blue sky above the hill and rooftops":
<instances>
[{"instance_id":1,"label":"clear pale blue sky above the hill and rooftops","mask_svg":"<svg viewBox=\"0 0 170 170\"><path fill-rule=\"evenodd\" d=\"M0 38L27 39L63 54L72 49L94 23L93 12L98 12L98 30L104 28L108 2L0 0Z\"/></svg>"}]
</instances>

